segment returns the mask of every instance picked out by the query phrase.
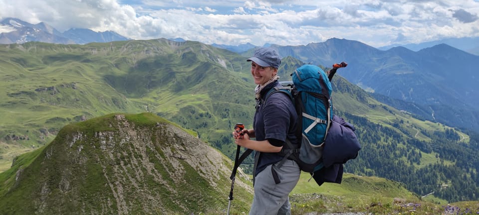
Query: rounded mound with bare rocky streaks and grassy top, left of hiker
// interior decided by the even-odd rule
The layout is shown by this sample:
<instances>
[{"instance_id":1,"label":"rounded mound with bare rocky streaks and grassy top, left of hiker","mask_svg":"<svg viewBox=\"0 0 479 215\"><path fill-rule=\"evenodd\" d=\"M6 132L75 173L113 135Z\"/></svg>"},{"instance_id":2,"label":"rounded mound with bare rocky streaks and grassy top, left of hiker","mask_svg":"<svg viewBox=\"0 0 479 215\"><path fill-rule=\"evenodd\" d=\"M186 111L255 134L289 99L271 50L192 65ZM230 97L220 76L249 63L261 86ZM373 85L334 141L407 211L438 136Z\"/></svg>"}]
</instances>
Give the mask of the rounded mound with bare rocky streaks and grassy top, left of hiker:
<instances>
[{"instance_id":1,"label":"rounded mound with bare rocky streaks and grassy top, left of hiker","mask_svg":"<svg viewBox=\"0 0 479 215\"><path fill-rule=\"evenodd\" d=\"M0 212L219 213L228 204L231 168L219 151L157 116L110 114L65 126L18 167ZM244 175L237 178L240 210L252 190Z\"/></svg>"}]
</instances>

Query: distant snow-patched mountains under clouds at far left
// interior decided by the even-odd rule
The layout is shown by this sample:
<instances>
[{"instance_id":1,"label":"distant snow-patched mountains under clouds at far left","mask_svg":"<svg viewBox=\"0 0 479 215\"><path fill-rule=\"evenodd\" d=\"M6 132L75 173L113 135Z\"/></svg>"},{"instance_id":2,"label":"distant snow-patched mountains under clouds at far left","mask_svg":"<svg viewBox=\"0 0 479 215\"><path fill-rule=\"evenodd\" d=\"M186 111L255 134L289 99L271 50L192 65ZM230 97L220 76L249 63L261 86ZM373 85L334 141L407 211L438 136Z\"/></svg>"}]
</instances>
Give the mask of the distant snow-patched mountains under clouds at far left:
<instances>
[{"instance_id":1,"label":"distant snow-patched mountains under clouds at far left","mask_svg":"<svg viewBox=\"0 0 479 215\"><path fill-rule=\"evenodd\" d=\"M70 28L59 32L45 22L30 24L17 18L5 18L0 22L9 32L0 33L0 44L25 43L30 41L57 44L86 44L129 40L113 31L95 32L85 28Z\"/></svg>"}]
</instances>

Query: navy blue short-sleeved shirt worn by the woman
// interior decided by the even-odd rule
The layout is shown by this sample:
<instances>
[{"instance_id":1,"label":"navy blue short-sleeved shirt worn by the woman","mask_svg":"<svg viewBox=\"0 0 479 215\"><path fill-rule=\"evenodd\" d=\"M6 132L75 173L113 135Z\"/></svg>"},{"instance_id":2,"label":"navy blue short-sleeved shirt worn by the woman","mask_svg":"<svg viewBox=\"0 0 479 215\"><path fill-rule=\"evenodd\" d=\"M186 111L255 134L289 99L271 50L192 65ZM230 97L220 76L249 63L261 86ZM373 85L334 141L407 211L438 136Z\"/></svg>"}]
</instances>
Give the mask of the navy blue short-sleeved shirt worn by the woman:
<instances>
[{"instance_id":1,"label":"navy blue short-sleeved shirt worn by the woman","mask_svg":"<svg viewBox=\"0 0 479 215\"><path fill-rule=\"evenodd\" d=\"M261 98L264 99L267 92L274 87L281 87L281 84L275 81L267 85L260 92ZM277 139L285 142L288 138L291 143L296 144L298 142L295 135L297 119L293 102L287 94L281 92L271 94L265 104L260 104L254 113L253 126L256 140ZM266 166L279 162L283 157L284 155L280 153L261 152L256 175Z\"/></svg>"}]
</instances>

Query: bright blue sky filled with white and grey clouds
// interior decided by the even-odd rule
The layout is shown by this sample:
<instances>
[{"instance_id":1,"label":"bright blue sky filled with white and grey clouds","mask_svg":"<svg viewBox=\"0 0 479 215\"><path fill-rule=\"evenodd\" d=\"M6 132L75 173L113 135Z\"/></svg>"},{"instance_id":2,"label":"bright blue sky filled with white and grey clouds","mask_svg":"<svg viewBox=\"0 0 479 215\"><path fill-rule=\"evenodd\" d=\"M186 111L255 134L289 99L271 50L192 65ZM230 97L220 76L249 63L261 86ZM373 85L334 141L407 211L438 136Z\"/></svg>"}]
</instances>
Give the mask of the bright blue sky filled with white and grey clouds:
<instances>
[{"instance_id":1,"label":"bright blue sky filled with white and grey clouds","mask_svg":"<svg viewBox=\"0 0 479 215\"><path fill-rule=\"evenodd\" d=\"M0 0L0 20L7 17L60 32L89 28L226 45L335 37L380 47L479 36L479 0Z\"/></svg>"}]
</instances>

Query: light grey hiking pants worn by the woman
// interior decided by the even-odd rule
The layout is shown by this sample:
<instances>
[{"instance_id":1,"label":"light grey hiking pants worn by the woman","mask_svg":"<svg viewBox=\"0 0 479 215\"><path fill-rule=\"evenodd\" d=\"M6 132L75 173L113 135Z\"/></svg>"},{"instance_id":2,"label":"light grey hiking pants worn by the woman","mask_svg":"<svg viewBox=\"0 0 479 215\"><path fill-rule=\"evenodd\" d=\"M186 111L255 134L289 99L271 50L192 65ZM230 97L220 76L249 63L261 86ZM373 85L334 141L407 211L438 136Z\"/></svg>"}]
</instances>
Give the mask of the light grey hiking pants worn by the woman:
<instances>
[{"instance_id":1,"label":"light grey hiking pants worn by the woman","mask_svg":"<svg viewBox=\"0 0 479 215\"><path fill-rule=\"evenodd\" d=\"M280 180L276 184L271 173L273 168ZM277 164L269 165L259 172L254 181L254 199L249 215L291 215L289 193L299 180L298 164L286 160L277 168Z\"/></svg>"}]
</instances>

